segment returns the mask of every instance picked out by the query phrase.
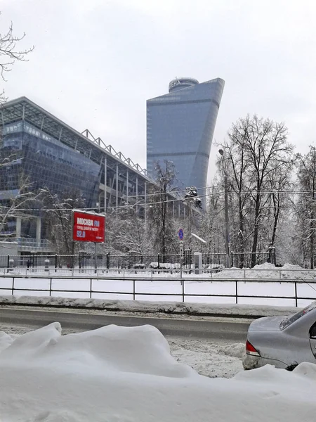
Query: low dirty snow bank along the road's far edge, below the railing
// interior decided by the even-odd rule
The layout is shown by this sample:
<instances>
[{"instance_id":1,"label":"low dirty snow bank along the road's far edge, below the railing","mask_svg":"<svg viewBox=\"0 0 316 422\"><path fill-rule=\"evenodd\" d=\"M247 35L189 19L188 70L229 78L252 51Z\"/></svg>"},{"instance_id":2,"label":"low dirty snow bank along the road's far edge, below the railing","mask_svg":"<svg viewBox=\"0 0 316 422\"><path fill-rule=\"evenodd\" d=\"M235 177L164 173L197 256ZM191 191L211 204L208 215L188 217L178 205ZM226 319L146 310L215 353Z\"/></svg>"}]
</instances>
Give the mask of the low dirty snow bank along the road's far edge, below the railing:
<instances>
[{"instance_id":1,"label":"low dirty snow bank along the road's far edge, below the railing","mask_svg":"<svg viewBox=\"0 0 316 422\"><path fill-rule=\"evenodd\" d=\"M104 309L114 312L143 312L188 314L199 316L259 316L289 315L298 312L297 307L265 305L224 305L187 302L146 302L145 300L72 299L41 296L0 296L0 305L32 305L41 307L70 307Z\"/></svg>"}]
</instances>

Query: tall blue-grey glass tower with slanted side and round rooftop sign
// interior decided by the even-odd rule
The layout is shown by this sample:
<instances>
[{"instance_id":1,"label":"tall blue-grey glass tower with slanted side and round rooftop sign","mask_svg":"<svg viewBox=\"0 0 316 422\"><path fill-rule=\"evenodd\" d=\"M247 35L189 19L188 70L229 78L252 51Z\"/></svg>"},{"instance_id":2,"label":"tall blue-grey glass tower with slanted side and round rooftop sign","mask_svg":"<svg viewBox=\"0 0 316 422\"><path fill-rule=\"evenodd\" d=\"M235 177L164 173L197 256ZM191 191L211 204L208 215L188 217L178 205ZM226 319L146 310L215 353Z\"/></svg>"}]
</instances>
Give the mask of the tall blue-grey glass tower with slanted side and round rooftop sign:
<instances>
[{"instance_id":1,"label":"tall blue-grey glass tower with slanted side and round rooftop sign","mask_svg":"<svg viewBox=\"0 0 316 422\"><path fill-rule=\"evenodd\" d=\"M147 100L147 172L172 161L178 187L206 186L209 154L225 82L173 79L169 94ZM199 191L202 195L203 191Z\"/></svg>"}]
</instances>

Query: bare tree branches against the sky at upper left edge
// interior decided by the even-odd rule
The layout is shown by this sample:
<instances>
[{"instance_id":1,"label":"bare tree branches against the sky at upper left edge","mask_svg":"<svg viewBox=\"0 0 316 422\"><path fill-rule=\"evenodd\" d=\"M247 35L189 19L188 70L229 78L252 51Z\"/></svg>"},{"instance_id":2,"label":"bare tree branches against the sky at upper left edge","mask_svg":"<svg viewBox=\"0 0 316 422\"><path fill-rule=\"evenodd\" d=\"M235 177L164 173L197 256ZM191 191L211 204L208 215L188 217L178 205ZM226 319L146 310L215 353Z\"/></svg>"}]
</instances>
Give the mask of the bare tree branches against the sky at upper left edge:
<instances>
[{"instance_id":1,"label":"bare tree branches against the sky at upper left edge","mask_svg":"<svg viewBox=\"0 0 316 422\"><path fill-rule=\"evenodd\" d=\"M19 49L18 44L25 38L25 32L20 37L13 33L13 23L8 30L0 33L0 74L1 79L6 82L6 73L11 72L16 61L27 61L27 54L34 50L34 46L29 49ZM0 93L0 103L7 100L4 90Z\"/></svg>"}]
</instances>

